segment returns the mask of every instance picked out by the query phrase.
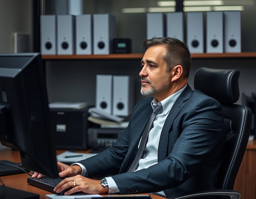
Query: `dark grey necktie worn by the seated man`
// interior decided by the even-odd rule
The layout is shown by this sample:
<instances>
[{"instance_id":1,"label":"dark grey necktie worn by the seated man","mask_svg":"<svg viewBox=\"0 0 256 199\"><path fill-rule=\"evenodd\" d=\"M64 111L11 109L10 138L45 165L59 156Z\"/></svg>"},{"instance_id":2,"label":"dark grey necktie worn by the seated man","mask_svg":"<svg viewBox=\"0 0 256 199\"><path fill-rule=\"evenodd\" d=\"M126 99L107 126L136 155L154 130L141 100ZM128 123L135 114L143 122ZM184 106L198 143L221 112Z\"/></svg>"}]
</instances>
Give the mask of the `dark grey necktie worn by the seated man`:
<instances>
[{"instance_id":1,"label":"dark grey necktie worn by the seated man","mask_svg":"<svg viewBox=\"0 0 256 199\"><path fill-rule=\"evenodd\" d=\"M141 159L141 156L143 154L143 151L144 151L147 139L148 139L148 133L149 133L150 129L153 127L153 122L155 120L155 117L161 110L162 110L162 106L158 106L158 105L153 110L153 113L151 114L151 116L148 120L148 123L145 127L145 130L141 136L141 141L140 141L139 148L138 148L137 154L135 156L135 159L133 160L133 162L130 165L130 168L128 169L127 172L134 172L134 170L136 170L137 165L139 163L139 159Z\"/></svg>"}]
</instances>

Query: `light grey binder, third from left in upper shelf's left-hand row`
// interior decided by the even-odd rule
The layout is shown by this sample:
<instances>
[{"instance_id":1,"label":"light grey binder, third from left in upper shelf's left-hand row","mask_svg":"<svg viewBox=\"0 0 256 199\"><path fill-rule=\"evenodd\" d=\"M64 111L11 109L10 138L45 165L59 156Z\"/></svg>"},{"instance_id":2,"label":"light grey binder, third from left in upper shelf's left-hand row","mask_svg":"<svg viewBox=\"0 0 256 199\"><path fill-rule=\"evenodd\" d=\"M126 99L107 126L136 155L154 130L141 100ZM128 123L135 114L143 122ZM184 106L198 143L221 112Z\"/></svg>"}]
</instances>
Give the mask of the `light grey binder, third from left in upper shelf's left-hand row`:
<instances>
[{"instance_id":1,"label":"light grey binder, third from left in upper shelf's left-hand row","mask_svg":"<svg viewBox=\"0 0 256 199\"><path fill-rule=\"evenodd\" d=\"M92 54L92 15L76 16L76 54Z\"/></svg>"}]
</instances>

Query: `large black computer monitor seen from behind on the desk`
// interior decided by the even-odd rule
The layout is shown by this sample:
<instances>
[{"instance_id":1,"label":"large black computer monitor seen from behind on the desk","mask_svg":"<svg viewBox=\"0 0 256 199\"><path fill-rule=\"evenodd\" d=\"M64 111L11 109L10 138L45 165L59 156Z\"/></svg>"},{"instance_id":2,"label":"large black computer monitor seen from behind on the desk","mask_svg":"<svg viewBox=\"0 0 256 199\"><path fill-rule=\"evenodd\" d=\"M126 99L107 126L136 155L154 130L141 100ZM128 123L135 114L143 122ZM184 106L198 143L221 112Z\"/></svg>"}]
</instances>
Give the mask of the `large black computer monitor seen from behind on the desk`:
<instances>
[{"instance_id":1,"label":"large black computer monitor seen from behind on the desk","mask_svg":"<svg viewBox=\"0 0 256 199\"><path fill-rule=\"evenodd\" d=\"M22 166L58 177L40 53L0 54L0 142L20 151Z\"/></svg>"}]
</instances>

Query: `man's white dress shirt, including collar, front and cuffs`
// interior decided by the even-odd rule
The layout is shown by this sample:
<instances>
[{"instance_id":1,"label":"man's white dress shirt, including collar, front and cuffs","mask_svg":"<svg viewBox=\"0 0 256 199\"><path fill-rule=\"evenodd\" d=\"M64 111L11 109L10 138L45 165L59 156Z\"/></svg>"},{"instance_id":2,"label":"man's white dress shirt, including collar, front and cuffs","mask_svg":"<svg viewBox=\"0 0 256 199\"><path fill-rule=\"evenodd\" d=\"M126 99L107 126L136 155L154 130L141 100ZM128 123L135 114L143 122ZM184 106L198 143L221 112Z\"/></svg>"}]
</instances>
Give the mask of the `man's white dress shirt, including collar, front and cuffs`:
<instances>
[{"instance_id":1,"label":"man's white dress shirt, including collar, front and cuffs","mask_svg":"<svg viewBox=\"0 0 256 199\"><path fill-rule=\"evenodd\" d=\"M173 107L173 104L177 100L177 98L180 96L182 91L185 89L186 86L184 86L182 89L177 91L176 93L172 94L171 96L165 98L164 100L160 101L157 103L155 98L151 102L151 106L154 110L155 106L160 105L163 107L162 112L160 112L156 117L155 121L153 122L153 128L150 130L148 134L148 142L145 146L144 149L144 156L139 160L139 166L136 171L148 168L152 165L157 164L157 152L158 152L158 145L159 145L159 140L162 132L162 128L164 126L164 122L166 121L166 118ZM138 146L139 147L139 146ZM79 165L82 168L81 175L87 176L87 170L84 165L81 163L74 163ZM72 165L74 165L72 164ZM114 179L110 177L106 177L106 180L108 182L108 193L114 194L114 193L119 193L119 189L117 187L117 184L115 183ZM164 194L164 191L157 192L155 193L157 195L162 195L166 196Z\"/></svg>"}]
</instances>

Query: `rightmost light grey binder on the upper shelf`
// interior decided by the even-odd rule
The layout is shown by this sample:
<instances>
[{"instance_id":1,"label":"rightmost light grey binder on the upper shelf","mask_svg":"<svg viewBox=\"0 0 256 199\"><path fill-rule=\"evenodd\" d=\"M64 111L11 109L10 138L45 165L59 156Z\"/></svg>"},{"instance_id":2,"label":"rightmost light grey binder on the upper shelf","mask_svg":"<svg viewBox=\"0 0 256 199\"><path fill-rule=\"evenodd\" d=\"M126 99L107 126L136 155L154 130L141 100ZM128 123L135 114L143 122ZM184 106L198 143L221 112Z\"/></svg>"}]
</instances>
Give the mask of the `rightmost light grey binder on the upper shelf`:
<instances>
[{"instance_id":1,"label":"rightmost light grey binder on the upper shelf","mask_svg":"<svg viewBox=\"0 0 256 199\"><path fill-rule=\"evenodd\" d=\"M224 52L241 52L241 11L224 11Z\"/></svg>"}]
</instances>

